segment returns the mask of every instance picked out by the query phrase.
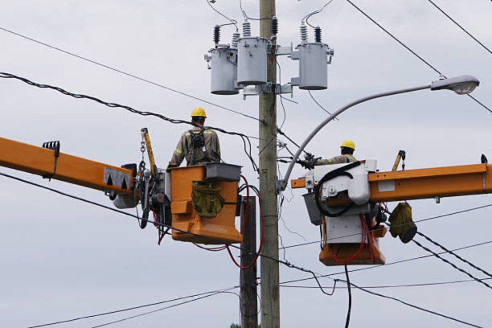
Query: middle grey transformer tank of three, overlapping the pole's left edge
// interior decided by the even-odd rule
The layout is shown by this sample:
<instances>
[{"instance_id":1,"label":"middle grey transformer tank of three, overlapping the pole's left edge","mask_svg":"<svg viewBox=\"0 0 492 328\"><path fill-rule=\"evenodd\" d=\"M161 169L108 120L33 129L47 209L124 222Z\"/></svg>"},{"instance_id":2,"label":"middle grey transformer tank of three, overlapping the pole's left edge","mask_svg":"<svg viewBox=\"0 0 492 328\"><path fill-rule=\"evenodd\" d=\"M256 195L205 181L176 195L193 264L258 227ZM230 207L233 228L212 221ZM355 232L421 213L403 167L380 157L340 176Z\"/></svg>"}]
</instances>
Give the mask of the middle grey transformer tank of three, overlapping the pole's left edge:
<instances>
[{"instance_id":1,"label":"middle grey transformer tank of three, overlapping the pole's left edge","mask_svg":"<svg viewBox=\"0 0 492 328\"><path fill-rule=\"evenodd\" d=\"M262 85L267 83L267 53L270 42L264 37L242 37L238 43L237 83Z\"/></svg>"}]
</instances>

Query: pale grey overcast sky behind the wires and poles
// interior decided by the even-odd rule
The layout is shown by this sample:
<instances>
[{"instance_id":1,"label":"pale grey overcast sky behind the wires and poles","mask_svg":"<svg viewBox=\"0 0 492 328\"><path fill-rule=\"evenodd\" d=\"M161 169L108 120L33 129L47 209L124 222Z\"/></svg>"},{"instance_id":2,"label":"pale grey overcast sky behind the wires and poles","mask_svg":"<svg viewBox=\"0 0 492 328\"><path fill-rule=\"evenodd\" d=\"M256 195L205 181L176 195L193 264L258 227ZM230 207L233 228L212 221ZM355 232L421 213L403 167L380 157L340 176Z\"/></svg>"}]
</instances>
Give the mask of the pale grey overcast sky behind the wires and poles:
<instances>
[{"instance_id":1,"label":"pale grey overcast sky behind the wires and poles","mask_svg":"<svg viewBox=\"0 0 492 328\"><path fill-rule=\"evenodd\" d=\"M294 47L298 28L306 14L326 2L277 1L278 43ZM447 76L474 75L481 84L473 95L492 109L492 57L428 1L354 0L404 44ZM436 0L445 12L487 47L492 47L492 3L487 0ZM250 17L258 16L258 1L243 0ZM217 0L214 8L236 19L243 17L238 1ZM137 75L163 86L206 99L214 104L254 116L258 99L242 95L210 93L210 71L203 55L213 47L212 31L227 20L205 0L171 1L2 1L0 27L54 47ZM310 23L322 28L323 42L335 51L328 67L328 89L313 92L326 110L334 111L351 101L374 93L429 84L439 75L404 49L345 0L334 0ZM253 35L258 34L252 20ZM230 42L234 28L222 29L222 42ZM313 38L313 31L310 30ZM202 106L207 124L248 135L258 134L258 122L219 107L145 83L74 56L36 44L0 30L1 71L37 83L87 94L106 101L188 119L191 109ZM279 58L280 81L298 75L296 61ZM2 119L0 136L42 145L60 140L61 151L111 165L138 162L140 129L147 127L158 166L165 167L180 134L181 125L108 108L90 100L75 99L53 90L38 89L17 80L1 79ZM285 95L290 97L290 95ZM278 103L282 130L301 142L326 113L305 91L294 88L292 100ZM285 110L285 111L284 111ZM358 105L330 122L307 149L316 156L331 157L343 139L356 143L359 159L376 159L378 168L391 170L398 150L407 152L407 169L466 165L480 162L481 154L492 158L489 122L492 113L467 96L428 90L376 99ZM243 166L250 183L257 175L244 155L238 137L219 134L222 158ZM279 138L286 141L285 138ZM238 146L241 145L241 146ZM253 140L257 159L257 142ZM288 142L288 147L296 147ZM285 150L279 155L287 155ZM280 166L280 174L286 166ZM15 175L67 193L111 205L102 192L56 180L0 168ZM296 167L292 178L304 173ZM0 326L27 327L145 303L158 302L235 286L239 269L226 252L206 252L191 243L165 238L157 245L151 227L140 230L135 219L0 178ZM279 234L283 245L319 240L301 195L287 190ZM410 202L414 219L424 219L492 203L491 196L443 198ZM393 209L396 203L389 203ZM133 211L131 213L134 213ZM445 247L461 248L490 241L490 207L429 220L419 231ZM294 232L294 233L293 233ZM420 240L427 246L423 240ZM461 256L492 271L490 245L469 248ZM388 263L427 255L413 243L402 244L389 234L380 240ZM433 248L436 250L435 248ZM288 248L280 257L319 274L340 273L340 267L325 267L318 261L317 243ZM466 268L477 277L479 272ZM259 272L258 272L259 274ZM280 281L310 275L280 265ZM334 276L344 279L344 275ZM434 258L408 261L351 273L360 286L401 285L468 279ZM333 280L320 280L332 286ZM314 286L313 280L295 285ZM234 290L238 292L238 290ZM258 288L259 291L259 288ZM478 282L438 286L375 289L444 315L478 326L492 321L490 290ZM401 303L352 291L352 326L461 327L463 324L409 308ZM219 294L153 314L112 324L121 328L162 325L229 327L238 323L238 297ZM165 306L162 305L161 307ZM155 310L152 307L147 310ZM60 324L92 327L137 315L135 310L116 315ZM326 296L318 289L280 288L282 327L342 326L347 311L347 291L337 289Z\"/></svg>"}]
</instances>

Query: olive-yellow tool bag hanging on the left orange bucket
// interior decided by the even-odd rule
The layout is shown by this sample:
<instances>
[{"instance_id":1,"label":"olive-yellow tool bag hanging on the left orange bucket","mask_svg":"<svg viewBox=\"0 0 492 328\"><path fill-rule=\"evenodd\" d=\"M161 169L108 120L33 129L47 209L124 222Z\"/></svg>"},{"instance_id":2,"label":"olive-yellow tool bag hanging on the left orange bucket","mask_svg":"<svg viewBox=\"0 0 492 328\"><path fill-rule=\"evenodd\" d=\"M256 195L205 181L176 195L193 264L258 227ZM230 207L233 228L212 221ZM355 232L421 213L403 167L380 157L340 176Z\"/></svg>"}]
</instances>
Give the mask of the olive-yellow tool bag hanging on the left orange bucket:
<instances>
[{"instance_id":1,"label":"olive-yellow tool bag hanging on the left orange bucket","mask_svg":"<svg viewBox=\"0 0 492 328\"><path fill-rule=\"evenodd\" d=\"M220 187L211 183L193 181L191 199L195 212L201 217L214 218L224 207L224 198L220 196Z\"/></svg>"}]
</instances>

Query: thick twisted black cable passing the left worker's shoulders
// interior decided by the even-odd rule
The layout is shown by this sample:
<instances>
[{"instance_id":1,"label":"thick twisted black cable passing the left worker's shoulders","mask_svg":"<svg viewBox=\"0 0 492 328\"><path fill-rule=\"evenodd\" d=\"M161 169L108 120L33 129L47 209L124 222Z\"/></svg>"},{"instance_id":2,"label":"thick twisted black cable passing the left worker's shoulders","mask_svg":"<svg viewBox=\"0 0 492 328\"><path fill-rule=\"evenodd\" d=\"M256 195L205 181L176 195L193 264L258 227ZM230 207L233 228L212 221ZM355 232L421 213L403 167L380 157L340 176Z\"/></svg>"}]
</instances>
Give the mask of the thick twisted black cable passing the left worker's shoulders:
<instances>
[{"instance_id":1,"label":"thick twisted black cable passing the left worker's shoulders","mask_svg":"<svg viewBox=\"0 0 492 328\"><path fill-rule=\"evenodd\" d=\"M105 105L105 106L110 107L110 108L122 108L122 109L125 109L125 110L127 110L127 111L129 111L131 113L139 114L139 115L142 115L142 116L155 116L155 117L158 117L158 118L160 118L162 120L168 121L168 122L170 122L172 124L187 124L187 125L191 125L191 126L197 127L197 125L194 124L191 121L186 121L186 120L182 120L182 119L169 118L169 117L166 117L166 116L164 116L162 114L158 114L158 113L154 113L154 112L149 112L149 111L139 111L137 109L134 109L134 108L132 108L130 106L126 106L126 105L120 105L120 104L116 104L116 103L108 103L107 101L101 100L101 99L96 98L96 97L93 97L93 96L72 93L72 92L66 91L66 90L64 90L62 88L51 86L51 85L38 84L38 83L35 83L35 82L33 82L33 81L25 78L25 77L17 76L17 75L11 74L11 73L0 72L0 77L1 78L14 78L14 79L18 79L18 80L23 81L24 83L26 83L26 84L28 84L30 86L34 86L34 87L42 88L42 89L52 89L52 90L58 91L58 92L60 92L60 93L62 93L64 95L71 96L71 97L74 97L74 98L77 98L77 99L89 99L89 100L93 100L93 101L96 101L96 103L99 103L101 105ZM246 154L246 156L250 160L251 165L253 166L253 170L255 170L255 172L258 172L258 166L256 165L256 162L253 159L253 156L251 154L251 152L252 152L251 141L250 141L250 139L249 139L249 137L247 135L245 135L243 133L240 133L240 132L227 131L227 130L224 130L224 129L221 129L221 128L216 128L216 127L211 127L211 126L204 126L203 129L210 129L210 130L215 130L215 131L218 131L218 132L221 132L221 133L225 133L225 134L239 136L241 138L242 142L243 142L244 153Z\"/></svg>"}]
</instances>

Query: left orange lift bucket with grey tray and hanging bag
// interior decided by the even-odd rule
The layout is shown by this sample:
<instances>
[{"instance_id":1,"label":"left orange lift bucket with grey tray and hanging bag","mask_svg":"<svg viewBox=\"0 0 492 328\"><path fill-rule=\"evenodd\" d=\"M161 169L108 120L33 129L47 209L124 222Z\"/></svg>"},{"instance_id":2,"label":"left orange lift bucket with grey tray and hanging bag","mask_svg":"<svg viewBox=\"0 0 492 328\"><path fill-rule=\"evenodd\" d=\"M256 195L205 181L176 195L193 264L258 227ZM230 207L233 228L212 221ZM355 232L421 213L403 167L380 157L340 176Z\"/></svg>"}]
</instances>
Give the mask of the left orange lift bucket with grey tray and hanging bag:
<instances>
[{"instance_id":1,"label":"left orange lift bucket with grey tray and hanging bag","mask_svg":"<svg viewBox=\"0 0 492 328\"><path fill-rule=\"evenodd\" d=\"M234 225L240 167L207 163L171 169L174 240L203 244L239 243Z\"/></svg>"}]
</instances>

